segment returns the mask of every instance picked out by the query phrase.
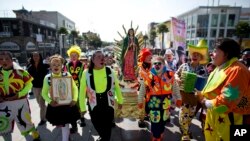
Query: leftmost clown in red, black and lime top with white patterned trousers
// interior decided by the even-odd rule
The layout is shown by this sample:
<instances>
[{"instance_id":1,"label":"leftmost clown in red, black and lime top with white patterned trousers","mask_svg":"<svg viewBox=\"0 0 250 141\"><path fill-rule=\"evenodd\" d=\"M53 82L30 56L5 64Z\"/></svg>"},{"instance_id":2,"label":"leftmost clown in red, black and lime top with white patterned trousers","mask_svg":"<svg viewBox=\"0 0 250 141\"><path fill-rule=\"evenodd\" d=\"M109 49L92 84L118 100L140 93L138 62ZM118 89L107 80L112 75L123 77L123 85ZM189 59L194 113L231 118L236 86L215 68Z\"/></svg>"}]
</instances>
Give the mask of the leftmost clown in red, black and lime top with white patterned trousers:
<instances>
[{"instance_id":1,"label":"leftmost clown in red, black and lime top with white patterned trousers","mask_svg":"<svg viewBox=\"0 0 250 141\"><path fill-rule=\"evenodd\" d=\"M27 94L32 88L32 76L12 60L12 53L0 52L0 135L12 141L14 123L21 134L32 134L33 141L40 141L34 123Z\"/></svg>"}]
</instances>

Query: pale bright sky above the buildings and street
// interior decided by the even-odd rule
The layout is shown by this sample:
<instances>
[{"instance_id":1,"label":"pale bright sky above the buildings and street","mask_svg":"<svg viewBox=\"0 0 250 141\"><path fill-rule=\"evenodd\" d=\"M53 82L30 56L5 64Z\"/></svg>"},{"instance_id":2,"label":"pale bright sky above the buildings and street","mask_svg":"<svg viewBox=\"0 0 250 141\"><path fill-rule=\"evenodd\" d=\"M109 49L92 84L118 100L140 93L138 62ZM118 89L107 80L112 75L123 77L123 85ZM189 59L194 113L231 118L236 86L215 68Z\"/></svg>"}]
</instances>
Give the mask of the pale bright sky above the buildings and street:
<instances>
[{"instance_id":1,"label":"pale bright sky above the buildings and street","mask_svg":"<svg viewBox=\"0 0 250 141\"><path fill-rule=\"evenodd\" d=\"M102 41L125 36L122 26L148 32L148 24L161 23L198 6L250 7L250 0L0 0L0 15L12 10L57 11L75 22L76 30L95 32Z\"/></svg>"}]
</instances>

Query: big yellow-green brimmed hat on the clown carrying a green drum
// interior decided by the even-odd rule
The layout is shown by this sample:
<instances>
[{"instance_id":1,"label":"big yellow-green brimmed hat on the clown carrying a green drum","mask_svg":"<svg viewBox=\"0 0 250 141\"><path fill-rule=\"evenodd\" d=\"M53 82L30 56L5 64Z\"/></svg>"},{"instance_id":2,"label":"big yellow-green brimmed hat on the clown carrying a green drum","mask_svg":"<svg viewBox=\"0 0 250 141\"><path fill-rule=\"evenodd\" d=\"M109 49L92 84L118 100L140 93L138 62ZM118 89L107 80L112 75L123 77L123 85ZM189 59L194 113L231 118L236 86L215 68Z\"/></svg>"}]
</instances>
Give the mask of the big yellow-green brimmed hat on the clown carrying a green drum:
<instances>
[{"instance_id":1,"label":"big yellow-green brimmed hat on the clown carrying a green drum","mask_svg":"<svg viewBox=\"0 0 250 141\"><path fill-rule=\"evenodd\" d=\"M202 55L202 58L200 60L200 64L207 64L208 63L208 46L205 39L201 39L198 44L195 45L188 45L188 52L189 55L193 54L194 52L197 52Z\"/></svg>"}]
</instances>

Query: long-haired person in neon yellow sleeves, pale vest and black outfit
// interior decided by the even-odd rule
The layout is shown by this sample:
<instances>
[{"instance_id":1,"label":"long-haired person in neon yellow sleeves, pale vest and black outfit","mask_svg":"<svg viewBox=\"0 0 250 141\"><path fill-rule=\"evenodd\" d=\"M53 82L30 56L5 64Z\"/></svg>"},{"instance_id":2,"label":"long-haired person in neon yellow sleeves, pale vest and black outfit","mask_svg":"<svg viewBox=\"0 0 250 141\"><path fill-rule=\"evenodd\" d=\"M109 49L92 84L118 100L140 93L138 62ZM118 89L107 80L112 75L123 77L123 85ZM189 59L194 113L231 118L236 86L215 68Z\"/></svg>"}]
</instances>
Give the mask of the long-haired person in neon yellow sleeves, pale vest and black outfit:
<instances>
[{"instance_id":1,"label":"long-haired person in neon yellow sleeves, pale vest and black outfit","mask_svg":"<svg viewBox=\"0 0 250 141\"><path fill-rule=\"evenodd\" d=\"M81 112L87 110L85 98L88 98L88 109L91 121L99 134L98 141L110 141L114 120L115 100L118 109L122 108L123 97L119 81L114 71L105 66L104 54L97 50L90 60L90 66L81 78L79 103Z\"/></svg>"}]
</instances>

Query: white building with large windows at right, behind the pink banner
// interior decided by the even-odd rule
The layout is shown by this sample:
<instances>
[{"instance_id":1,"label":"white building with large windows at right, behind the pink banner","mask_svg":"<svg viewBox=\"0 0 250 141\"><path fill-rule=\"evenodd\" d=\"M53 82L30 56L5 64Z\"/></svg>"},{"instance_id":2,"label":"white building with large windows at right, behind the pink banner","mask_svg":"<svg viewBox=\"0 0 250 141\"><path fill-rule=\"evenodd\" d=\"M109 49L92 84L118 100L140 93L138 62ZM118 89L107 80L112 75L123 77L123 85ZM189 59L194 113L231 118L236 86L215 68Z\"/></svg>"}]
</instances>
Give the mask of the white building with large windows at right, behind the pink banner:
<instances>
[{"instance_id":1,"label":"white building with large windows at right, behind the pink banner","mask_svg":"<svg viewBox=\"0 0 250 141\"><path fill-rule=\"evenodd\" d=\"M235 38L235 25L238 23L241 7L199 6L179 16L186 23L187 43L197 44L206 38L209 50L213 49L216 38Z\"/></svg>"}]
</instances>

